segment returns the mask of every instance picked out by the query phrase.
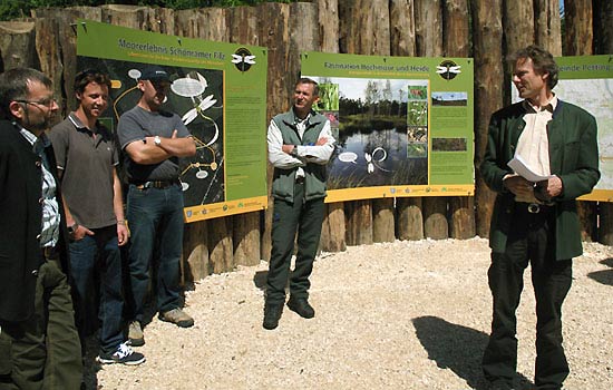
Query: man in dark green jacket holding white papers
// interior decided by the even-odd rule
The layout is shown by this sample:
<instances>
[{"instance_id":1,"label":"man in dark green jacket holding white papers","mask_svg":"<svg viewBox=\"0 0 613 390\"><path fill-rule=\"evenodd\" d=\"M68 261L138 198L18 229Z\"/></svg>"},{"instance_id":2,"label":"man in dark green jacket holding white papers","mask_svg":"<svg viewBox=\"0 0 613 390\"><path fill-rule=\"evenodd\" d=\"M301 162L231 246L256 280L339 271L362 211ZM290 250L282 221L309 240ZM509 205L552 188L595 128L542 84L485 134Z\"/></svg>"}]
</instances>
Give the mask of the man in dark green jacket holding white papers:
<instances>
[{"instance_id":1,"label":"man in dark green jacket holding white papers","mask_svg":"<svg viewBox=\"0 0 613 390\"><path fill-rule=\"evenodd\" d=\"M480 165L485 183L497 192L488 271L494 314L483 369L494 388L513 388L515 312L529 262L537 316L534 381L537 389L561 389L568 374L562 303L571 287L572 257L582 254L575 199L600 178L596 121L552 92L558 76L549 52L529 46L512 61L513 82L524 100L492 116ZM514 172L507 165L514 157L541 179Z\"/></svg>"}]
</instances>

